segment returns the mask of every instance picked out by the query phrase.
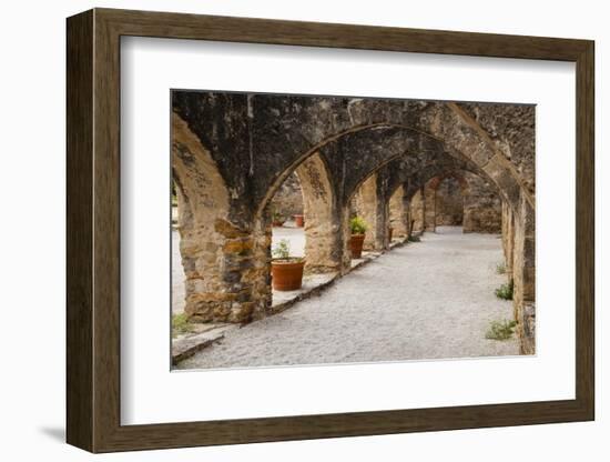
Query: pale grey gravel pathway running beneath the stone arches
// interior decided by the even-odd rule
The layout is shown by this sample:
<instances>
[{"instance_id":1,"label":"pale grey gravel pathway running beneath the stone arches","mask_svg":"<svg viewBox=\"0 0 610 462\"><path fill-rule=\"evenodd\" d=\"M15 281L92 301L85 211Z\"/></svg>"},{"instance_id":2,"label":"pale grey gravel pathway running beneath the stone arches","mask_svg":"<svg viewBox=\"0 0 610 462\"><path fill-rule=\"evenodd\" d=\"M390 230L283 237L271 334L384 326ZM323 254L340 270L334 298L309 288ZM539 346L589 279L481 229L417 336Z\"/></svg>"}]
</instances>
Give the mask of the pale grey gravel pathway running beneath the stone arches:
<instances>
[{"instance_id":1,"label":"pale grey gravel pathway running beneath the stone arches","mask_svg":"<svg viewBox=\"0 0 610 462\"><path fill-rule=\"evenodd\" d=\"M516 340L485 339L512 303L497 235L440 228L338 280L317 298L230 332L179 369L404 361L519 354Z\"/></svg>"}]
</instances>

